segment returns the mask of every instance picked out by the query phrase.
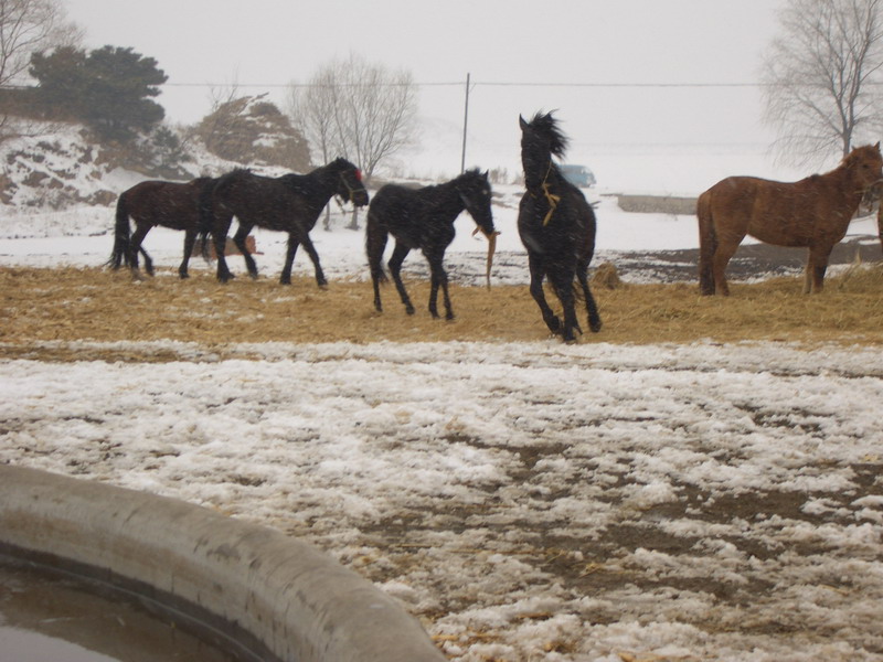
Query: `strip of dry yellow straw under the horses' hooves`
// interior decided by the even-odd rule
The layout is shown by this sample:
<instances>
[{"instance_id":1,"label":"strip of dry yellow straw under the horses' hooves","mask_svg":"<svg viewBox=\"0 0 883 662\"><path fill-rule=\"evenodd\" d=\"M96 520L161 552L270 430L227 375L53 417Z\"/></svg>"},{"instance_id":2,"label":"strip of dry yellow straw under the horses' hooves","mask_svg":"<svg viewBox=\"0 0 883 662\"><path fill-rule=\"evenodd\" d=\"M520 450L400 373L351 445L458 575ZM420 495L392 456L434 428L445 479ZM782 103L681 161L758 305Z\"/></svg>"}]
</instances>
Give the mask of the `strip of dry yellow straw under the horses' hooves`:
<instances>
[{"instance_id":1,"label":"strip of dry yellow straw under the horses' hooves","mask_svg":"<svg viewBox=\"0 0 883 662\"><path fill-rule=\"evenodd\" d=\"M223 348L237 342L536 341L549 338L525 286L451 287L457 319L433 320L428 284L408 284L417 307L407 316L395 289L384 312L372 306L371 284L312 279L281 286L210 274L181 281L161 270L134 282L128 273L97 268L0 268L3 323L0 355L76 360L82 351L50 351L45 341L177 340ZM579 342L685 343L778 340L883 344L883 266L829 278L819 296L801 293L796 278L738 285L730 298L700 297L693 284L596 285L604 329ZM553 297L550 297L554 301ZM583 323L585 313L581 314ZM223 352L222 352L223 354ZM126 356L120 354L123 360ZM138 359L132 356L132 360ZM153 356L151 360L158 360ZM161 360L161 357L159 359Z\"/></svg>"}]
</instances>

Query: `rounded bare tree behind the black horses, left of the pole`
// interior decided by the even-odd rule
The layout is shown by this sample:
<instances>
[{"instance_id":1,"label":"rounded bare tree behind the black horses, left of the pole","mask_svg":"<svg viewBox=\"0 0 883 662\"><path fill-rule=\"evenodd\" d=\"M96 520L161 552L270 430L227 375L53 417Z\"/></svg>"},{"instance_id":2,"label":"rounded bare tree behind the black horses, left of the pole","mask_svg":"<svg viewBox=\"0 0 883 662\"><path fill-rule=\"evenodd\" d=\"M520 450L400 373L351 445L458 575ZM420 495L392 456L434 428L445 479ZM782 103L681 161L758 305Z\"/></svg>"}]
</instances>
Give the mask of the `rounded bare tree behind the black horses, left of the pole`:
<instances>
[{"instance_id":1,"label":"rounded bare tree behind the black horses, left of the pole","mask_svg":"<svg viewBox=\"0 0 883 662\"><path fill-rule=\"evenodd\" d=\"M383 161L415 136L417 86L406 71L391 71L357 55L323 66L294 88L291 111L323 160L342 156L371 181ZM358 225L355 212L350 227Z\"/></svg>"}]
</instances>

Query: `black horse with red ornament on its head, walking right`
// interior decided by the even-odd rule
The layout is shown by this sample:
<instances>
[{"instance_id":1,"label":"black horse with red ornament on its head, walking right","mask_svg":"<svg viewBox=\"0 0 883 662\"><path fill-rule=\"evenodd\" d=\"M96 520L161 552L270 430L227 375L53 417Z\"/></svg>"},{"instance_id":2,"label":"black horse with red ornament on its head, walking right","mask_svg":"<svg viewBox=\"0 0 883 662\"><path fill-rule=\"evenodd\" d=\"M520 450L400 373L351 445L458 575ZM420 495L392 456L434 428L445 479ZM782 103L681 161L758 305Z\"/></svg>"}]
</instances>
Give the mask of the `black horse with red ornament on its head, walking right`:
<instances>
[{"instance_id":1,"label":"black horse with red ornament on its head, walking right","mask_svg":"<svg viewBox=\"0 0 883 662\"><path fill-rule=\"evenodd\" d=\"M242 252L252 278L257 278L257 265L246 248L245 238L257 225L288 233L288 253L279 282L290 285L291 264L302 244L316 268L316 281L327 285L309 233L332 195L339 195L355 206L368 204L362 173L345 159L336 159L308 174L269 178L248 170L234 170L222 177L203 205L208 212L205 227L211 227L217 254L217 279L226 282L233 278L224 259L224 245L233 216L236 216L240 225L233 243Z\"/></svg>"}]
</instances>

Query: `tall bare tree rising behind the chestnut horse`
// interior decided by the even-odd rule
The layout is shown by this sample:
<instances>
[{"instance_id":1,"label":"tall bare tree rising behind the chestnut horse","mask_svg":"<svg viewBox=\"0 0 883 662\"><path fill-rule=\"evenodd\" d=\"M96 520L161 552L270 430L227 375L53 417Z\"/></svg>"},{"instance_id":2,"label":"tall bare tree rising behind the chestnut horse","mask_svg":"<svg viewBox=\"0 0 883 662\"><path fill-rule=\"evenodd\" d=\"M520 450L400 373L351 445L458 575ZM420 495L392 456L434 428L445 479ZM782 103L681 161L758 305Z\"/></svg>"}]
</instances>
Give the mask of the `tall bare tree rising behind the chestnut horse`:
<instances>
[{"instance_id":1,"label":"tall bare tree rising behind the chestnut horse","mask_svg":"<svg viewBox=\"0 0 883 662\"><path fill-rule=\"evenodd\" d=\"M848 154L883 128L883 0L789 0L764 57L764 118L794 162Z\"/></svg>"}]
</instances>

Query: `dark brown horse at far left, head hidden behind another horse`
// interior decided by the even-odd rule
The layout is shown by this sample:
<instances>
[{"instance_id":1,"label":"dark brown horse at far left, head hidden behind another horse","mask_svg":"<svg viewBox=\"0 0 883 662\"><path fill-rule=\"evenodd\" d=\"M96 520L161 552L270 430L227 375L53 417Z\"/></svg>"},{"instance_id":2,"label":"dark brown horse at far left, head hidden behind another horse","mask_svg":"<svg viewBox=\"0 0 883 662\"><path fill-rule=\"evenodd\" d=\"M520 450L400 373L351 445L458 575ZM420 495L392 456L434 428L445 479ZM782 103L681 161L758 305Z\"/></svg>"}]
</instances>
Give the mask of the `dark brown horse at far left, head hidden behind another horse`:
<instances>
[{"instance_id":1,"label":"dark brown horse at far left, head hidden behind another horse","mask_svg":"<svg viewBox=\"0 0 883 662\"><path fill-rule=\"evenodd\" d=\"M187 183L146 181L124 191L117 199L116 225L114 227L114 252L107 266L119 269L124 264L131 269L132 278L140 278L138 253L145 257L145 270L153 275L153 260L141 245L155 225L184 231L184 259L178 267L181 278L188 277L188 264L193 253L201 227L200 201L205 191L217 180L201 177ZM129 217L135 223L135 233L129 227ZM203 257L208 258L203 236Z\"/></svg>"}]
</instances>

